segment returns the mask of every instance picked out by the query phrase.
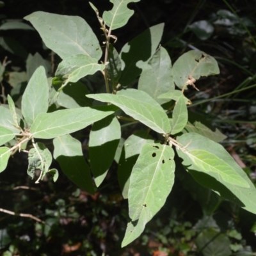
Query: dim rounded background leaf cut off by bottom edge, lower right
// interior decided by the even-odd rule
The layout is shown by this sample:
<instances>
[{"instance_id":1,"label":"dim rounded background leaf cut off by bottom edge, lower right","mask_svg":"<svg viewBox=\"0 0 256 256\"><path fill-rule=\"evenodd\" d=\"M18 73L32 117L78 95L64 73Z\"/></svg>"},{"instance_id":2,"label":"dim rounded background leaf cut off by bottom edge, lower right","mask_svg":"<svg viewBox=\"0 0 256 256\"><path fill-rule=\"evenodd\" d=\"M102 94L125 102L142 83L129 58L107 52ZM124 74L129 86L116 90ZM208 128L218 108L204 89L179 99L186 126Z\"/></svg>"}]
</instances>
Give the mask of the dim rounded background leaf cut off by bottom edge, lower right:
<instances>
[{"instance_id":1,"label":"dim rounded background leaf cut off by bottom edge, lower right","mask_svg":"<svg viewBox=\"0 0 256 256\"><path fill-rule=\"evenodd\" d=\"M203 230L195 241L198 251L204 256L229 256L232 254L230 250L230 240L227 235L220 234L213 228ZM207 246L205 246L207 244Z\"/></svg>"}]
</instances>

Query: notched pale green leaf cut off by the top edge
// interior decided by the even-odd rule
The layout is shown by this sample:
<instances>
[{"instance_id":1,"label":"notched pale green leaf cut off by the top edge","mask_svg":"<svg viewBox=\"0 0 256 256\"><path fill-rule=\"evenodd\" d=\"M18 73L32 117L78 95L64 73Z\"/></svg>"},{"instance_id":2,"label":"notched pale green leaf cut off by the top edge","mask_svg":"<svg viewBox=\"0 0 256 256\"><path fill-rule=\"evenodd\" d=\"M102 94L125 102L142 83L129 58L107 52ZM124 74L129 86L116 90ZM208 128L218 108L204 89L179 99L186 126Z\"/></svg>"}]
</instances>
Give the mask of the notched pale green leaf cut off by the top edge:
<instances>
[{"instance_id":1,"label":"notched pale green leaf cut off by the top edge","mask_svg":"<svg viewBox=\"0 0 256 256\"><path fill-rule=\"evenodd\" d=\"M109 29L114 30L122 28L130 19L133 10L127 8L127 4L131 2L139 2L140 0L110 0L114 4L112 10L103 13L103 20L109 26Z\"/></svg>"}]
</instances>

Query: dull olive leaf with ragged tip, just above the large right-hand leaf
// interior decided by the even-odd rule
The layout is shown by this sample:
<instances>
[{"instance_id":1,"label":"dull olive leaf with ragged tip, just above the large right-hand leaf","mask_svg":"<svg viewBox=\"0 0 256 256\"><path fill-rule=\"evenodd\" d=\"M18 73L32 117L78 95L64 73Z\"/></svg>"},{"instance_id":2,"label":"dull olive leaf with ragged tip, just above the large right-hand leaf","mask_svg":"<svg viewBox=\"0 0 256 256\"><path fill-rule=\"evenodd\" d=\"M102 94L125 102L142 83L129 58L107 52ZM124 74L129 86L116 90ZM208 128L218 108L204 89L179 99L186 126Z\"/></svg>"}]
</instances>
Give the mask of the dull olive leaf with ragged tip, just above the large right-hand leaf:
<instances>
[{"instance_id":1,"label":"dull olive leaf with ragged tip, just above the large right-hand leaf","mask_svg":"<svg viewBox=\"0 0 256 256\"><path fill-rule=\"evenodd\" d=\"M189 122L184 127L183 133L195 132L215 142L223 141L227 138L219 129L213 127L205 116L188 111L188 120Z\"/></svg>"}]
</instances>

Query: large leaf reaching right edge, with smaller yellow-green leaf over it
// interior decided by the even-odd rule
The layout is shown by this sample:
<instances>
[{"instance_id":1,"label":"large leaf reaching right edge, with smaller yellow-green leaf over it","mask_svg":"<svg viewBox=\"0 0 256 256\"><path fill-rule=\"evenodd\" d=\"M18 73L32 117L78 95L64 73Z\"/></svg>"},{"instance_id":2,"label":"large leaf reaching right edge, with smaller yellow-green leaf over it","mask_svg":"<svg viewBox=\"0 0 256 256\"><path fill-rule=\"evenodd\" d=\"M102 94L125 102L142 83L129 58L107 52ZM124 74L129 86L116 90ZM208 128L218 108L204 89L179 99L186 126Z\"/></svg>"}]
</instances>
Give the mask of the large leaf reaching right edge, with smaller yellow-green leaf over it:
<instances>
[{"instance_id":1,"label":"large leaf reaching right edge, with smaller yellow-green leaf over it","mask_svg":"<svg viewBox=\"0 0 256 256\"><path fill-rule=\"evenodd\" d=\"M177 150L177 153L183 159L182 164L186 170L198 183L256 214L256 203L253 200L256 197L256 188L225 148L192 132L182 134L177 141L186 146L184 150L188 154L182 150ZM190 150L193 150L191 154Z\"/></svg>"}]
</instances>

